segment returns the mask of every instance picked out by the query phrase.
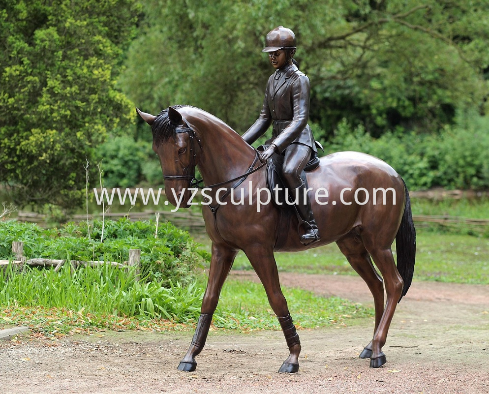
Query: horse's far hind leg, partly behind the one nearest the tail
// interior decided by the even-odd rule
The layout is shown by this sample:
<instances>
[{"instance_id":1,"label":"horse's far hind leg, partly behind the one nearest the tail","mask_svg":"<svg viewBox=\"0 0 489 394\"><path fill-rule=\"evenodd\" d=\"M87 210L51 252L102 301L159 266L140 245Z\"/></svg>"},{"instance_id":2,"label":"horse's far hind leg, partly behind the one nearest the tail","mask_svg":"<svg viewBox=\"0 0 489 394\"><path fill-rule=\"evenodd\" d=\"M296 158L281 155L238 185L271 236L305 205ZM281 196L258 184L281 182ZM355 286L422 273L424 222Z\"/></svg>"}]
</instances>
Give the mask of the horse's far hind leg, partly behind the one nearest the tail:
<instances>
[{"instance_id":1,"label":"horse's far hind leg, partly behind the one nearest the tail","mask_svg":"<svg viewBox=\"0 0 489 394\"><path fill-rule=\"evenodd\" d=\"M370 255L367 252L360 237L355 235L347 235L336 244L341 250L360 277L367 283L368 289L373 296L373 304L375 307L375 328L373 333L377 331L379 327L380 319L384 313L384 284L382 278L379 276L375 268L373 267ZM364 348L360 353L360 358L368 359L372 355L372 341Z\"/></svg>"}]
</instances>

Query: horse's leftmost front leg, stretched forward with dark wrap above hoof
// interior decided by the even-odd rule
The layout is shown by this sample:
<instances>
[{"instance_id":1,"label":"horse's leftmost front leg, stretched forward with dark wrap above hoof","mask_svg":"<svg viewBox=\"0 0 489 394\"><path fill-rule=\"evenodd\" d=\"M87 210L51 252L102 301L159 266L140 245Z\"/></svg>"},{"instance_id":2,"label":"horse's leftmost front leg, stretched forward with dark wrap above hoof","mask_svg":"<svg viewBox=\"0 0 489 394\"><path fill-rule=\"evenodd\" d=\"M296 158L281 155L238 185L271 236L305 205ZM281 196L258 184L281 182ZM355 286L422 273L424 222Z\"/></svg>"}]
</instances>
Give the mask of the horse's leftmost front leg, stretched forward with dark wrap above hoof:
<instances>
[{"instance_id":1,"label":"horse's leftmost front leg, stretched forward with dark wrap above hoof","mask_svg":"<svg viewBox=\"0 0 489 394\"><path fill-rule=\"evenodd\" d=\"M209 281L207 282L207 288L202 299L201 315L190 347L178 365L180 371L191 372L195 371L197 367L195 357L202 351L206 344L207 334L209 333L212 316L219 301L222 285L231 270L237 254L237 250L230 249L227 246L216 245L215 243L212 245Z\"/></svg>"}]
</instances>

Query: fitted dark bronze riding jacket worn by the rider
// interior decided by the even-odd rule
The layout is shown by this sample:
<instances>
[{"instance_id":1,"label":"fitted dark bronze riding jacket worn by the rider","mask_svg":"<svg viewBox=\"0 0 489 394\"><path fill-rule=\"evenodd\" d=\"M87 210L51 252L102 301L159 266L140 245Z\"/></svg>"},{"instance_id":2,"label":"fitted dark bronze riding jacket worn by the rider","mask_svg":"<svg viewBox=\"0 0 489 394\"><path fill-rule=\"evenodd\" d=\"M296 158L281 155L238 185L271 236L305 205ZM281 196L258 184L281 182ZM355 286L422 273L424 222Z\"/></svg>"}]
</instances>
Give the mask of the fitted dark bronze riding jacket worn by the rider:
<instances>
[{"instance_id":1,"label":"fitted dark bronze riding jacket worn by the rider","mask_svg":"<svg viewBox=\"0 0 489 394\"><path fill-rule=\"evenodd\" d=\"M273 122L272 137L266 145L274 143L283 152L290 144L303 144L317 152L307 124L309 97L309 78L295 64L276 70L268 79L260 116L243 134L243 139L252 144Z\"/></svg>"}]
</instances>

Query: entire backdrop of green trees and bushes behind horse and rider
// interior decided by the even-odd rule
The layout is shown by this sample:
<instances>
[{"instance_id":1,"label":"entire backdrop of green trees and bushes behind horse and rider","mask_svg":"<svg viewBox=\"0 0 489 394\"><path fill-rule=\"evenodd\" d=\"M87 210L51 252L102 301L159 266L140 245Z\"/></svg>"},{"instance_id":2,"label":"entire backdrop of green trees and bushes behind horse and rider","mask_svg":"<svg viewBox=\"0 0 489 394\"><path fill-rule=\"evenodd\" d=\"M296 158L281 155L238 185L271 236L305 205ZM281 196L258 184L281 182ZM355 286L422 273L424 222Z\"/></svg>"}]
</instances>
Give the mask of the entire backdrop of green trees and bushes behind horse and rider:
<instances>
[{"instance_id":1,"label":"entire backdrop of green trees and bushes behind horse and rider","mask_svg":"<svg viewBox=\"0 0 489 394\"><path fill-rule=\"evenodd\" d=\"M79 204L86 159L104 158L110 185L157 182L136 104L197 106L244 132L277 25L297 35L327 152L375 154L411 188L489 186L486 0L0 5L0 182L18 205Z\"/></svg>"}]
</instances>

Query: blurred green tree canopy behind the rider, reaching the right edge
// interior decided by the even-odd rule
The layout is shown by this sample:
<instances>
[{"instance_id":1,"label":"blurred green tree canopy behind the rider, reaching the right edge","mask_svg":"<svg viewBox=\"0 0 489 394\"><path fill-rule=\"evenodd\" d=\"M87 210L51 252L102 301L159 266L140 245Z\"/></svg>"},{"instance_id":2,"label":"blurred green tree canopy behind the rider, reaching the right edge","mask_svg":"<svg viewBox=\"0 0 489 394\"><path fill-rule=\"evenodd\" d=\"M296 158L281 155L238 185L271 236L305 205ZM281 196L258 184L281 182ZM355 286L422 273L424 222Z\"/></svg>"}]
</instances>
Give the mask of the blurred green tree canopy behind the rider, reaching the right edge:
<instances>
[{"instance_id":1,"label":"blurred green tree canopy behind the rider, reaching the right edge","mask_svg":"<svg viewBox=\"0 0 489 394\"><path fill-rule=\"evenodd\" d=\"M148 111L191 104L245 131L272 72L265 33L284 25L325 137L343 118L372 135L434 131L487 110L488 12L487 0L148 0L121 81Z\"/></svg>"}]
</instances>

